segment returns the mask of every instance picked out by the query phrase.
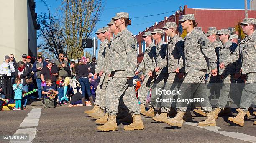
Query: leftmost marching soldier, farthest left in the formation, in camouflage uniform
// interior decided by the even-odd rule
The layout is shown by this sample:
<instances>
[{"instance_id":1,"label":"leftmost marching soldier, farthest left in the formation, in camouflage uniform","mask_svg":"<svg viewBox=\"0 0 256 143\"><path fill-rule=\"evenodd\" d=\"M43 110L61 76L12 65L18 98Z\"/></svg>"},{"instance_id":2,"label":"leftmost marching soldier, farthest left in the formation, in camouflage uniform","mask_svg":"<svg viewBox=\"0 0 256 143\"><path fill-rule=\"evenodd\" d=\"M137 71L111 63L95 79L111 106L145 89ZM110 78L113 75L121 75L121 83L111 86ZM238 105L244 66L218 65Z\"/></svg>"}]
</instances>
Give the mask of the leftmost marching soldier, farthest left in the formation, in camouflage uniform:
<instances>
[{"instance_id":1,"label":"leftmost marching soldier, farthest left in the formation, in camouflage uniform","mask_svg":"<svg viewBox=\"0 0 256 143\"><path fill-rule=\"evenodd\" d=\"M98 30L96 32L97 34L97 37L98 39L100 39L101 43L100 43L100 49L98 51L98 63L97 63L97 67L95 69L95 75L100 73L102 70L103 70L103 62L105 61L105 57L102 55L102 53L104 52L106 46L107 46L107 43L108 43L108 40L105 39L103 37L103 33L106 31L107 29L105 27L101 28L100 30ZM96 76L95 76L96 77ZM95 100L95 106L92 110L86 110L84 111L84 113L87 113L89 114L92 114L91 116L94 117L94 118L101 118L102 116L104 116L104 111L105 111L105 107L104 105L102 106L102 104L100 102L104 102L104 94L102 94L101 90L102 90L102 86L103 86L103 81L104 79L101 79L100 80L100 83L99 83L99 86L97 86L97 96L96 96L96 100ZM104 89L103 89L104 91ZM97 116L95 116L95 113L97 113Z\"/></svg>"}]
</instances>

